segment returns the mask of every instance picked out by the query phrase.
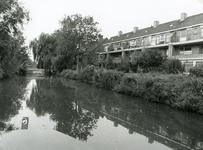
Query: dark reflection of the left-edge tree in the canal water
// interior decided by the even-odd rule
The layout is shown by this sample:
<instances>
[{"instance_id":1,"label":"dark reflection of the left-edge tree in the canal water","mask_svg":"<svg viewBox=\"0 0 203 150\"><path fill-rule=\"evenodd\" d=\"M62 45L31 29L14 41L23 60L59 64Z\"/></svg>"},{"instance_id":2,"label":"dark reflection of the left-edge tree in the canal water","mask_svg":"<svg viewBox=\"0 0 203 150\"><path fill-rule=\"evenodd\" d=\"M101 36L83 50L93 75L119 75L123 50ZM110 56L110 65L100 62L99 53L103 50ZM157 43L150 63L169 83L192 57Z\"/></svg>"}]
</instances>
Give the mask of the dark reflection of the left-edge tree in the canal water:
<instances>
[{"instance_id":1,"label":"dark reflection of the left-edge tree in the canal water","mask_svg":"<svg viewBox=\"0 0 203 150\"><path fill-rule=\"evenodd\" d=\"M18 114L21 108L20 100L25 98L26 85L25 78L0 81L0 131L10 131L19 128L6 122Z\"/></svg>"}]
</instances>

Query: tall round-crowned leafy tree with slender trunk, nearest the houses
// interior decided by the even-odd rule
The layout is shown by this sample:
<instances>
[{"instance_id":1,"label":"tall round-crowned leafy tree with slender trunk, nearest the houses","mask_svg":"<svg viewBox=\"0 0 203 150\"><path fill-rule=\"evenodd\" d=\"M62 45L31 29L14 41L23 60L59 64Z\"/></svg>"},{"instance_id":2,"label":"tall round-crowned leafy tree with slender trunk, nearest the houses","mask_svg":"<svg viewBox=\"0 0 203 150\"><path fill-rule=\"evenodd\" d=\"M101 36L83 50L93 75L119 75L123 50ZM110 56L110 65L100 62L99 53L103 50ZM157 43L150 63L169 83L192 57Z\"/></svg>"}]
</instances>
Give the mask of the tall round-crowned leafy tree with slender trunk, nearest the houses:
<instances>
[{"instance_id":1,"label":"tall round-crowned leafy tree with slender trunk, nearest the houses","mask_svg":"<svg viewBox=\"0 0 203 150\"><path fill-rule=\"evenodd\" d=\"M82 17L80 14L75 14L65 16L60 24L63 33L67 33L68 47L72 48L70 51L77 58L77 71L79 71L80 53L88 51L91 45L98 41L98 23L91 16Z\"/></svg>"}]
</instances>

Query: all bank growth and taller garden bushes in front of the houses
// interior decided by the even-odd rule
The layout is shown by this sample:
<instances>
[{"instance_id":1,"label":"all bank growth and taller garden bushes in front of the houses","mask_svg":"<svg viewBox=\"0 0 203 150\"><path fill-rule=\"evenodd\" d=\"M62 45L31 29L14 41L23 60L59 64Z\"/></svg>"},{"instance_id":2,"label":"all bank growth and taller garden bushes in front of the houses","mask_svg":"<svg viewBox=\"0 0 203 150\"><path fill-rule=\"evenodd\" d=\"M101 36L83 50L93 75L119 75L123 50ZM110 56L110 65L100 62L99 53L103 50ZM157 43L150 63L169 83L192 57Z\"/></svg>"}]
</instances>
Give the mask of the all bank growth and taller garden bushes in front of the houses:
<instances>
[{"instance_id":1,"label":"all bank growth and taller garden bushes in front of the houses","mask_svg":"<svg viewBox=\"0 0 203 150\"><path fill-rule=\"evenodd\" d=\"M152 55L148 56L149 53ZM109 59L105 68L91 65L81 73L64 70L60 75L99 88L141 97L143 100L203 114L203 79L200 73L195 74L195 67L191 68L195 76L184 75L184 66L179 60L166 59L153 50L132 57L131 63L123 61L116 67Z\"/></svg>"}]
</instances>

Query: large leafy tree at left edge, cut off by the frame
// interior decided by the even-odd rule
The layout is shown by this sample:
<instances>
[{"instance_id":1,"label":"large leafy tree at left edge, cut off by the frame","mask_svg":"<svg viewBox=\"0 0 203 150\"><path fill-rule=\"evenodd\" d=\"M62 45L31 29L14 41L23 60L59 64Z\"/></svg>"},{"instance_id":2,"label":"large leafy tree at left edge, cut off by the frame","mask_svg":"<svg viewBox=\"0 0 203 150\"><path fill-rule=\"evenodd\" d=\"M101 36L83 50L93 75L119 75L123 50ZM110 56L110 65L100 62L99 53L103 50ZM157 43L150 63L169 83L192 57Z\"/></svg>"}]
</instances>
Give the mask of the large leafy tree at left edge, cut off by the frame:
<instances>
[{"instance_id":1,"label":"large leafy tree at left edge, cut off by the frame","mask_svg":"<svg viewBox=\"0 0 203 150\"><path fill-rule=\"evenodd\" d=\"M28 58L26 48L22 47L22 28L28 21L28 11L17 0L0 1L0 76L19 73Z\"/></svg>"}]
</instances>

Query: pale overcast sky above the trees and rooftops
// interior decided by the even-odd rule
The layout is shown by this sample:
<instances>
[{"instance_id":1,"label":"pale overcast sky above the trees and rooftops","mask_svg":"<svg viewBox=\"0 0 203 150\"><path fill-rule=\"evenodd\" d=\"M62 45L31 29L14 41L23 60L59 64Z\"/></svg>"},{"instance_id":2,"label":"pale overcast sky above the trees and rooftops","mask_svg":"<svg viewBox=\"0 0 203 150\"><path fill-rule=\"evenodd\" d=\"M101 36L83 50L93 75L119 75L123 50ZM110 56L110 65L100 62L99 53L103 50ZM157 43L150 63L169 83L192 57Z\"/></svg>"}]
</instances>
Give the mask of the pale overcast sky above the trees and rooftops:
<instances>
[{"instance_id":1,"label":"pale overcast sky above the trees and rooftops","mask_svg":"<svg viewBox=\"0 0 203 150\"><path fill-rule=\"evenodd\" d=\"M203 0L19 0L29 10L32 20L25 25L26 44L40 33L59 29L64 15L93 16L104 37L130 32L153 25L155 20L165 23L203 13Z\"/></svg>"}]
</instances>

